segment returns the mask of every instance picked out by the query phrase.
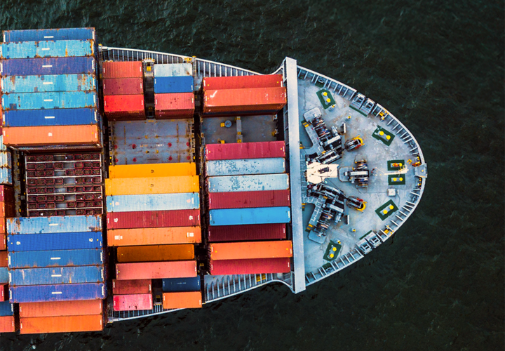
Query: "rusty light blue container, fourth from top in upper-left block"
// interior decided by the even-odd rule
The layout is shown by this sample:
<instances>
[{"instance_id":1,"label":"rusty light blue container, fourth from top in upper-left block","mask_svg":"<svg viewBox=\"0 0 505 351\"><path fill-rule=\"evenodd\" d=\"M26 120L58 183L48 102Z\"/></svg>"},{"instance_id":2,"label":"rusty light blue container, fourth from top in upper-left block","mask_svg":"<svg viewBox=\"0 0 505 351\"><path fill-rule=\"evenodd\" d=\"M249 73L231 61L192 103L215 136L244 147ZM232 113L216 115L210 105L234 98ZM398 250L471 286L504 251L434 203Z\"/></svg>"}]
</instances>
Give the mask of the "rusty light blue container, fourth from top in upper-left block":
<instances>
[{"instance_id":1,"label":"rusty light blue container, fourth from top in upper-left block","mask_svg":"<svg viewBox=\"0 0 505 351\"><path fill-rule=\"evenodd\" d=\"M46 93L48 91L95 91L93 74L48 74L46 76L11 76L1 79L7 93Z\"/></svg>"}]
</instances>

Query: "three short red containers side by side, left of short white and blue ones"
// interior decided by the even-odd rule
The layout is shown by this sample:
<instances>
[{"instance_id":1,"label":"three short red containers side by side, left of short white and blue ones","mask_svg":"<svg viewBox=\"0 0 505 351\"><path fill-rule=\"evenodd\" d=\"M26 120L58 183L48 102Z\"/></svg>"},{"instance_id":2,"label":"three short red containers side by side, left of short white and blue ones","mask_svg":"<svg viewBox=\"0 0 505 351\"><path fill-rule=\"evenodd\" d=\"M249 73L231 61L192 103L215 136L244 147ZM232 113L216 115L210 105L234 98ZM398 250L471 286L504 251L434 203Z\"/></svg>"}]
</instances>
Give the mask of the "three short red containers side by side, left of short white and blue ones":
<instances>
[{"instance_id":1,"label":"three short red containers side by side, left of short white and blue ones","mask_svg":"<svg viewBox=\"0 0 505 351\"><path fill-rule=\"evenodd\" d=\"M145 119L142 61L102 63L105 115L114 121Z\"/></svg>"}]
</instances>

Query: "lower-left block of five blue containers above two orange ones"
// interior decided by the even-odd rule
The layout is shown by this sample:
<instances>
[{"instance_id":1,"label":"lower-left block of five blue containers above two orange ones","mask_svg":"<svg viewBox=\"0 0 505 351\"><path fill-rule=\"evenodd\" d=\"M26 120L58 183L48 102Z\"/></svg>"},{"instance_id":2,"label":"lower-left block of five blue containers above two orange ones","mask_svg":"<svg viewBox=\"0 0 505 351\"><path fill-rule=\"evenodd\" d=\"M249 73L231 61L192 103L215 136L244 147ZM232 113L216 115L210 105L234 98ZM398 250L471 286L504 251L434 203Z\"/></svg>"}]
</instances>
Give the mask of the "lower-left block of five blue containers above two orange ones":
<instances>
[{"instance_id":1,"label":"lower-left block of five blue containers above two orange ones","mask_svg":"<svg viewBox=\"0 0 505 351\"><path fill-rule=\"evenodd\" d=\"M8 218L11 303L21 333L103 329L102 216Z\"/></svg>"}]
</instances>

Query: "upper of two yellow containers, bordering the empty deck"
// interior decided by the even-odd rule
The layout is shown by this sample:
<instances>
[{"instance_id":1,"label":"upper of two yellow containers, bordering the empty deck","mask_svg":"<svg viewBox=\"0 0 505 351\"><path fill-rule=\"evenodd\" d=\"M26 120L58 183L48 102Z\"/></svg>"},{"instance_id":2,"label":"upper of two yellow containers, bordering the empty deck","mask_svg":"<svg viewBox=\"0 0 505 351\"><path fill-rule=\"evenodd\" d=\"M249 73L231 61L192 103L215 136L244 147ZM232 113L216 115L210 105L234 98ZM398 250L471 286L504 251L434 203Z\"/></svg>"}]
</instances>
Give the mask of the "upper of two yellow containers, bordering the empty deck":
<instances>
[{"instance_id":1,"label":"upper of two yellow containers, bordering the empty deck","mask_svg":"<svg viewBox=\"0 0 505 351\"><path fill-rule=\"evenodd\" d=\"M126 164L109 166L109 178L196 176L196 164Z\"/></svg>"}]
</instances>

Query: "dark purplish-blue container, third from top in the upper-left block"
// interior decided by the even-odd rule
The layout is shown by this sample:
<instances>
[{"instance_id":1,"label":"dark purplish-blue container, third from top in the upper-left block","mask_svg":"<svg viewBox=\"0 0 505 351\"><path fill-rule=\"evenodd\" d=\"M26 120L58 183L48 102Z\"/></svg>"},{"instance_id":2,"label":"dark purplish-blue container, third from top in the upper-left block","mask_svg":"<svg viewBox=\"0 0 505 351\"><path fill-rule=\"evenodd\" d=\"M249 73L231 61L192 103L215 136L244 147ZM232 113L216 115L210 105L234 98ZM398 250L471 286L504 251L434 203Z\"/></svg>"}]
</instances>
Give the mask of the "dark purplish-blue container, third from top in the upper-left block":
<instances>
[{"instance_id":1,"label":"dark purplish-blue container, third from top in the upper-left block","mask_svg":"<svg viewBox=\"0 0 505 351\"><path fill-rule=\"evenodd\" d=\"M95 74L95 58L15 58L0 61L2 76Z\"/></svg>"}]
</instances>

